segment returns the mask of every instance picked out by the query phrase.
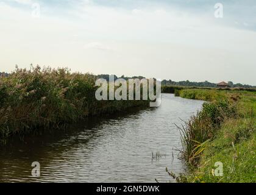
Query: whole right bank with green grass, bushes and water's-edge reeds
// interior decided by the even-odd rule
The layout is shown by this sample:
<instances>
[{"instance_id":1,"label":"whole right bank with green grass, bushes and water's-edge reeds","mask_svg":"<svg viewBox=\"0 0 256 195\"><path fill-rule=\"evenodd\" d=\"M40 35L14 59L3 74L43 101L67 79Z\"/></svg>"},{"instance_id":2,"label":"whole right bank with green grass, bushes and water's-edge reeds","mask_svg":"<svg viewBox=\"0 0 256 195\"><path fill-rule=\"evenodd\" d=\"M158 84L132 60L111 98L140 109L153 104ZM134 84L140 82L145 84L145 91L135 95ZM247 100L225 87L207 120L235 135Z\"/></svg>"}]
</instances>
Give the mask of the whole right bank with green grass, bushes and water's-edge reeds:
<instances>
[{"instance_id":1,"label":"whole right bank with green grass, bushes and water's-edge reeds","mask_svg":"<svg viewBox=\"0 0 256 195\"><path fill-rule=\"evenodd\" d=\"M256 93L185 89L179 95L208 101L179 127L182 156L191 168L182 181L256 182ZM223 165L222 176L215 176L216 162Z\"/></svg>"}]
</instances>

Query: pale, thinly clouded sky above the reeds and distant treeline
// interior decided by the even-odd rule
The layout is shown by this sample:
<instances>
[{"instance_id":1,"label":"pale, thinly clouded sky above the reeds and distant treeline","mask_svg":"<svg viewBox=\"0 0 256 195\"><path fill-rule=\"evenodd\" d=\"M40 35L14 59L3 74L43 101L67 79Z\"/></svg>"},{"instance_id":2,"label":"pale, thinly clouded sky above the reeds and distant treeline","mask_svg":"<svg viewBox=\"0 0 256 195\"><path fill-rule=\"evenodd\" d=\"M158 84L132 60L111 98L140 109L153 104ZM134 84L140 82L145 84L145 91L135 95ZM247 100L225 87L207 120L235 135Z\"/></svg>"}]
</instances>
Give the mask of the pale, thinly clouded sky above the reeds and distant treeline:
<instances>
[{"instance_id":1,"label":"pale, thinly clouded sky above the reeds and distant treeline","mask_svg":"<svg viewBox=\"0 0 256 195\"><path fill-rule=\"evenodd\" d=\"M0 71L256 85L255 10L254 0L0 0Z\"/></svg>"}]
</instances>

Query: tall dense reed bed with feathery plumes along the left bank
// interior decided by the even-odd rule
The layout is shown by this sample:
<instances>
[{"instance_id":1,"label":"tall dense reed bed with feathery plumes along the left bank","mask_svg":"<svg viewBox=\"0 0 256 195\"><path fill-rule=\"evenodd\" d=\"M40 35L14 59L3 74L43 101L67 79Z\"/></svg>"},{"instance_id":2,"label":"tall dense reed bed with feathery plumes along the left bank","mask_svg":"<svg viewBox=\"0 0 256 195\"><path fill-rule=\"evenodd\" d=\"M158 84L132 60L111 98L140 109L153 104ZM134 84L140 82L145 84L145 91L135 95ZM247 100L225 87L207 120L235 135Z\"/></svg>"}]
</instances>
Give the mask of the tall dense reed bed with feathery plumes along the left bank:
<instances>
[{"instance_id":1,"label":"tall dense reed bed with feathery plumes along the left bank","mask_svg":"<svg viewBox=\"0 0 256 195\"><path fill-rule=\"evenodd\" d=\"M87 116L113 113L147 101L97 101L96 77L68 69L16 69L0 78L0 140L60 128Z\"/></svg>"}]
</instances>

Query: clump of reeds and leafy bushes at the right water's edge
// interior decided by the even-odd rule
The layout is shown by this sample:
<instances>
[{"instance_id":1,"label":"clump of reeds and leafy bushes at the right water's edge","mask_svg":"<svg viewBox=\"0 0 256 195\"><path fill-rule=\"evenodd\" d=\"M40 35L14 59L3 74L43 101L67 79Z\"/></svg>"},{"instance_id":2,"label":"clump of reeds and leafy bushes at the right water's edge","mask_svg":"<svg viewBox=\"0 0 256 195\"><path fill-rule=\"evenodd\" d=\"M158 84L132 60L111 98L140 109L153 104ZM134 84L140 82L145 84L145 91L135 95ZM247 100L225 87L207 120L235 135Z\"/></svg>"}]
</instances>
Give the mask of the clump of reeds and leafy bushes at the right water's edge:
<instances>
[{"instance_id":1,"label":"clump of reeds and leafy bushes at the right water's edge","mask_svg":"<svg viewBox=\"0 0 256 195\"><path fill-rule=\"evenodd\" d=\"M236 115L236 108L228 101L205 102L201 112L191 116L185 126L179 127L182 134L183 158L197 165L206 144L214 137L217 128L226 118Z\"/></svg>"}]
</instances>

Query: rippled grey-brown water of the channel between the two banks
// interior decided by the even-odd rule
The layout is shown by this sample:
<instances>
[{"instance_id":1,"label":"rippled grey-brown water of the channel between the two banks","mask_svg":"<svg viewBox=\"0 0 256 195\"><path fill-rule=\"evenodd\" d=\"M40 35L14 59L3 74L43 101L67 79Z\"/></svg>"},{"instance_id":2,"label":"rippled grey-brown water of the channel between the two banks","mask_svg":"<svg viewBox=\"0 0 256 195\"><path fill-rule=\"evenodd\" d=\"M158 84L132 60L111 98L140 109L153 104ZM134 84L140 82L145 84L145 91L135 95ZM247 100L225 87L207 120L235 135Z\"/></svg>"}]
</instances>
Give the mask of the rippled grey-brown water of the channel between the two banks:
<instances>
[{"instance_id":1,"label":"rippled grey-brown water of the channel between the two banks","mask_svg":"<svg viewBox=\"0 0 256 195\"><path fill-rule=\"evenodd\" d=\"M176 174L186 168L177 157L180 133L174 123L201 106L202 101L162 94L158 108L15 138L0 148L0 182L174 182L165 168ZM40 163L40 177L31 176L33 161Z\"/></svg>"}]
</instances>

